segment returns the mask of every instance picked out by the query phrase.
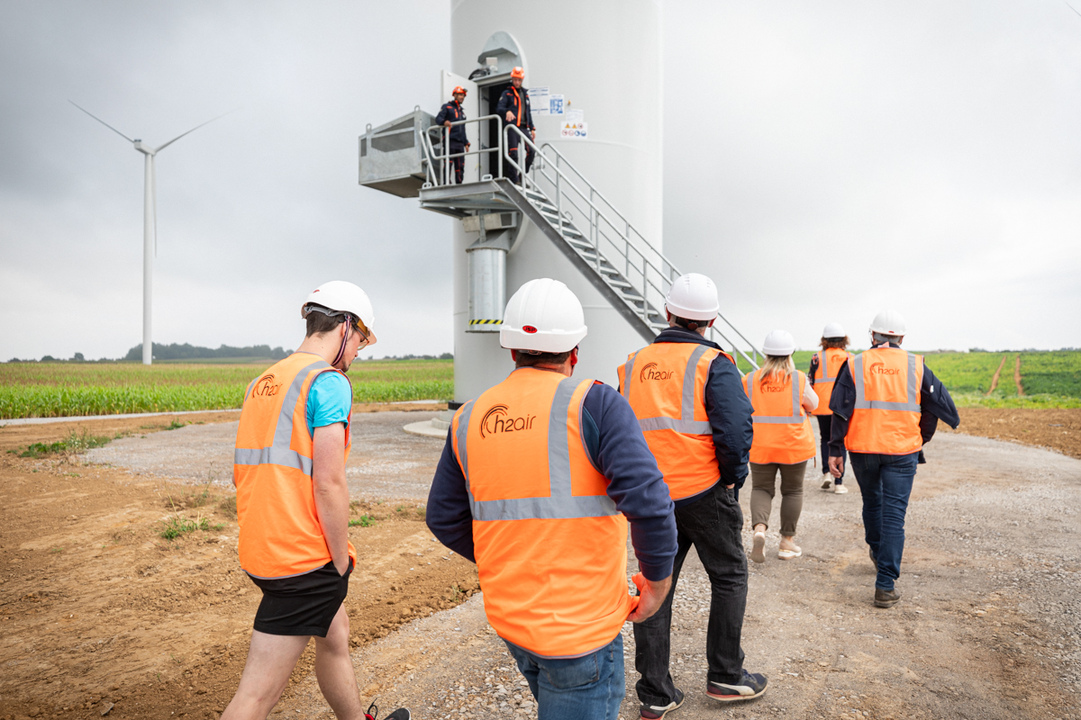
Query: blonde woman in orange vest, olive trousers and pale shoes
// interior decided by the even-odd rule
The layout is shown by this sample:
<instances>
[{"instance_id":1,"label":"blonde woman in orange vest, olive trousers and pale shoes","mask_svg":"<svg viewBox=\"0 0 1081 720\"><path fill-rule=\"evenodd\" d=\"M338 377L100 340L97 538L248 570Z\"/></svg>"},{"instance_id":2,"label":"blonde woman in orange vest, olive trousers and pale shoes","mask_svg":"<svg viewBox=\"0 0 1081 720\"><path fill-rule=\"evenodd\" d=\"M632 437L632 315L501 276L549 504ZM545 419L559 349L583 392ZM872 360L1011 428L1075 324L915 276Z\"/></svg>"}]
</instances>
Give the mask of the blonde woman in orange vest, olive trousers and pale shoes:
<instances>
[{"instance_id":1,"label":"blonde woman in orange vest, olive trousers and pale shoes","mask_svg":"<svg viewBox=\"0 0 1081 720\"><path fill-rule=\"evenodd\" d=\"M765 562L765 530L780 473L780 548L777 557L790 560L803 554L795 542L796 525L803 510L803 474L814 458L814 433L808 415L818 407L818 396L808 377L796 369L796 340L786 330L765 336L760 370L744 376L744 390L755 408L755 441L750 446L750 517L755 543L750 559Z\"/></svg>"}]
</instances>

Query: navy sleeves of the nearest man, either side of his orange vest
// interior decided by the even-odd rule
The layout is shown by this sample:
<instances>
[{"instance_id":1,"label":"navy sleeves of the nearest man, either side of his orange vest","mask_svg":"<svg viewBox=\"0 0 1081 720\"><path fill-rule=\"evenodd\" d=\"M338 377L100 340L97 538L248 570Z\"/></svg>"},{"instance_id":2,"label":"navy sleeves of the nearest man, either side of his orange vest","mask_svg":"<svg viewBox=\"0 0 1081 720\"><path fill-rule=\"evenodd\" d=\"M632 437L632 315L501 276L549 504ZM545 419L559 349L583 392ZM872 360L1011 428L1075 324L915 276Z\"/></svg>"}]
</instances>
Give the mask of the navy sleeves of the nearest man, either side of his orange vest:
<instances>
[{"instance_id":1,"label":"navy sleeves of the nearest man, either side of his orange vest","mask_svg":"<svg viewBox=\"0 0 1081 720\"><path fill-rule=\"evenodd\" d=\"M582 427L590 461L609 479L609 498L630 521L630 542L642 574L664 580L672 573L676 558L676 516L668 486L630 405L610 385L598 382L583 400ZM428 492L426 520L441 543L476 562L469 494L453 443L449 431Z\"/></svg>"}]
</instances>

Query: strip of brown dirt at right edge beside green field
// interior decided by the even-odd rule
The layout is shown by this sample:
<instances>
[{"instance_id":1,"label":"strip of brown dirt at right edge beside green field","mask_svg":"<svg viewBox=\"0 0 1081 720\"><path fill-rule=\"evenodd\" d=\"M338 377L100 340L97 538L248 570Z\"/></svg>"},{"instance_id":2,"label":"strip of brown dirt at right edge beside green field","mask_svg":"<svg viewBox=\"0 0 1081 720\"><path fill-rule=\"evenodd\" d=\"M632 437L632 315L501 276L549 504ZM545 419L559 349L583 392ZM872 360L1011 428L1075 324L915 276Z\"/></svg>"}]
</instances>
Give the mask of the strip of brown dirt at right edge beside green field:
<instances>
[{"instance_id":1,"label":"strip of brown dirt at right edge beside green field","mask_svg":"<svg viewBox=\"0 0 1081 720\"><path fill-rule=\"evenodd\" d=\"M1081 458L1081 409L960 408L958 432L1057 450ZM939 432L953 432L938 423Z\"/></svg>"}]
</instances>

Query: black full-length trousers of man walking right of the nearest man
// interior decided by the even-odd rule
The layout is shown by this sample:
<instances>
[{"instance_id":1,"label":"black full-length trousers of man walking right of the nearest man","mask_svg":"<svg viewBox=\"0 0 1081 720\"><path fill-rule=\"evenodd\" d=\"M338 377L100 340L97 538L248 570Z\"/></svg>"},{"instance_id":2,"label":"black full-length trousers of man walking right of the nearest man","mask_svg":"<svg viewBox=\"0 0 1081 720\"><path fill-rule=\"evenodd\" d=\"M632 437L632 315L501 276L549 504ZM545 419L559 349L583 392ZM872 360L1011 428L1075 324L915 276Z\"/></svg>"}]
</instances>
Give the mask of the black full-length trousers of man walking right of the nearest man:
<instances>
[{"instance_id":1,"label":"black full-length trousers of man walking right of the nearest man","mask_svg":"<svg viewBox=\"0 0 1081 720\"><path fill-rule=\"evenodd\" d=\"M707 679L731 684L743 678L739 638L747 607L747 556L740 534L743 511L733 490L718 483L700 499L676 508L679 549L671 592L656 614L635 624L635 669L641 675L635 689L646 705L667 705L676 699L676 685L668 671L672 597L691 545L712 588L706 634Z\"/></svg>"}]
</instances>

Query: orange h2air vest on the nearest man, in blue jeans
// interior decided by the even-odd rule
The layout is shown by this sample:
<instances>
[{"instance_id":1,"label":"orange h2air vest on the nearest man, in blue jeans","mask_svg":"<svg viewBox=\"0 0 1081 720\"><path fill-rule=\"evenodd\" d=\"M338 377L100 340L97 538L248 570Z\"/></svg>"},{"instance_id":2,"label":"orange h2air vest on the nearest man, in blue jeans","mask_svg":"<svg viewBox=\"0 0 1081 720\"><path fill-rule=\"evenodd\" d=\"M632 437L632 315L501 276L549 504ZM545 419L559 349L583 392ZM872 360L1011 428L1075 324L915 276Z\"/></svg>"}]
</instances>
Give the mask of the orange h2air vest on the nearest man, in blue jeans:
<instances>
[{"instance_id":1,"label":"orange h2air vest on the nearest man, in blue jeans","mask_svg":"<svg viewBox=\"0 0 1081 720\"><path fill-rule=\"evenodd\" d=\"M488 620L499 637L546 657L603 648L636 604L627 518L582 437L592 384L519 368L452 421Z\"/></svg>"}]
</instances>

